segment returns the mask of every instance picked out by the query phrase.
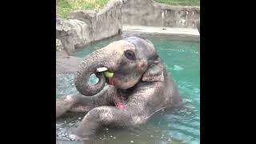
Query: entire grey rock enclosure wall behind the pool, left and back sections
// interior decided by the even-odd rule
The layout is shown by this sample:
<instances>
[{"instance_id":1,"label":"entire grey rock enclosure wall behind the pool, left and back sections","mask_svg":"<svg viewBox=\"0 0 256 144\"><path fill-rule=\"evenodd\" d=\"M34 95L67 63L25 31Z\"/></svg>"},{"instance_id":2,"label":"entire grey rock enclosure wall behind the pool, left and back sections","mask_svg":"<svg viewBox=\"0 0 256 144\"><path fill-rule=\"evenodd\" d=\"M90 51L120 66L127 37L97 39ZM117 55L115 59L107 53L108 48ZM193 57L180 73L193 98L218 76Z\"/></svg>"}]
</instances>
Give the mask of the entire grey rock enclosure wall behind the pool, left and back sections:
<instances>
[{"instance_id":1,"label":"entire grey rock enclosure wall behind the pool, left and back sections","mask_svg":"<svg viewBox=\"0 0 256 144\"><path fill-rule=\"evenodd\" d=\"M122 25L196 29L200 26L200 8L167 6L153 0L110 0L98 12L77 10L67 19L56 15L56 50L74 55L75 48L119 34Z\"/></svg>"}]
</instances>

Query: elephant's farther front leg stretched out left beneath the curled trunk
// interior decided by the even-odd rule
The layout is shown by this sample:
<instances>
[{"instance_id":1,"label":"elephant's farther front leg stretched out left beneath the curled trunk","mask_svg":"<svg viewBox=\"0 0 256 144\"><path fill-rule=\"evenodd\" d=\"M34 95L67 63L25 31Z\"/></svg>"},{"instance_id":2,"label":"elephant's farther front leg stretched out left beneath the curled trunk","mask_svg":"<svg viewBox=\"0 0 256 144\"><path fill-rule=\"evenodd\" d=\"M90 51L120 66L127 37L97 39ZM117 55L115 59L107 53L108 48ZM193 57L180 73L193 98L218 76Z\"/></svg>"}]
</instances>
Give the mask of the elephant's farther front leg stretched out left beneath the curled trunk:
<instances>
[{"instance_id":1,"label":"elephant's farther front leg stretched out left beneath the curled trunk","mask_svg":"<svg viewBox=\"0 0 256 144\"><path fill-rule=\"evenodd\" d=\"M67 111L86 112L97 106L108 105L114 93L115 89L110 87L94 96L84 96L82 94L68 95L66 98L62 98L56 102L56 118Z\"/></svg>"}]
</instances>

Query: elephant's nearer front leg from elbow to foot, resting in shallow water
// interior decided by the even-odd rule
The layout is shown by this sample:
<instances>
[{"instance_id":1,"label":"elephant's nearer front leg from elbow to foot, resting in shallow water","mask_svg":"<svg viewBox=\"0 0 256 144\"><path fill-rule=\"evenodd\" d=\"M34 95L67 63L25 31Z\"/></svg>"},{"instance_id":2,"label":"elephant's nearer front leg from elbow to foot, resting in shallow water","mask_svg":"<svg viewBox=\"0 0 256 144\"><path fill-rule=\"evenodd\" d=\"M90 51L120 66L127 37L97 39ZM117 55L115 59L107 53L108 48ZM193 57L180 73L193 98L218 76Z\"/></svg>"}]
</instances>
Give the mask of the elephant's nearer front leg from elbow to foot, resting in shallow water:
<instances>
[{"instance_id":1,"label":"elephant's nearer front leg from elbow to foot, resting in shallow water","mask_svg":"<svg viewBox=\"0 0 256 144\"><path fill-rule=\"evenodd\" d=\"M86 114L70 138L86 140L102 126L137 126L146 122L147 118L146 113L134 107L126 106L125 110L119 110L115 106L100 106Z\"/></svg>"}]
</instances>

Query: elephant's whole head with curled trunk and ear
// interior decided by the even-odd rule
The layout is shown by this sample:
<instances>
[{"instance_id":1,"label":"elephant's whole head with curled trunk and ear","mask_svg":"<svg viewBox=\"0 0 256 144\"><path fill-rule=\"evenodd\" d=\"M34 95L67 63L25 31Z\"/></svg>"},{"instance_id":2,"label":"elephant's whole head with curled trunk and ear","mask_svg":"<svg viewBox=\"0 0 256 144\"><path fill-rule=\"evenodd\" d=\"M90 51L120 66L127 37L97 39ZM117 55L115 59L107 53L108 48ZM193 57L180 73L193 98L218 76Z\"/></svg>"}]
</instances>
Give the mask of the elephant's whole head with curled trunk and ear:
<instances>
[{"instance_id":1,"label":"elephant's whole head with curled trunk and ear","mask_svg":"<svg viewBox=\"0 0 256 144\"><path fill-rule=\"evenodd\" d=\"M114 73L114 77L106 78L103 73L96 71L98 67L106 67ZM99 78L95 85L89 84L91 74L96 74ZM153 43L138 37L112 42L87 55L74 78L77 90L86 96L100 92L105 82L126 90L139 81L163 81L163 66Z\"/></svg>"}]
</instances>

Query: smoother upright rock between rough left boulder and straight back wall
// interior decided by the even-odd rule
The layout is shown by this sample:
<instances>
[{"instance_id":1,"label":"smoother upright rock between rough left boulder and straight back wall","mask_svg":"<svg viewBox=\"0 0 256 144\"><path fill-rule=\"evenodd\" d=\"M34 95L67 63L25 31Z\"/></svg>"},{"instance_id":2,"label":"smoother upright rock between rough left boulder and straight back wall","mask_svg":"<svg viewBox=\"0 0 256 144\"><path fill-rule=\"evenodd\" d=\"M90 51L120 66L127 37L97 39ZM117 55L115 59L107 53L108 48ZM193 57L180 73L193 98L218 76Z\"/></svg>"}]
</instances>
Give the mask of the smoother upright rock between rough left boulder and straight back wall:
<instances>
[{"instance_id":1,"label":"smoother upright rock between rough left boulder and straight back wall","mask_svg":"<svg viewBox=\"0 0 256 144\"><path fill-rule=\"evenodd\" d=\"M91 42L109 38L122 30L122 1L109 1L98 13L91 10L76 10L70 13L69 18L87 23Z\"/></svg>"}]
</instances>

